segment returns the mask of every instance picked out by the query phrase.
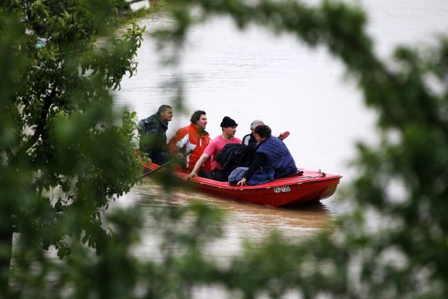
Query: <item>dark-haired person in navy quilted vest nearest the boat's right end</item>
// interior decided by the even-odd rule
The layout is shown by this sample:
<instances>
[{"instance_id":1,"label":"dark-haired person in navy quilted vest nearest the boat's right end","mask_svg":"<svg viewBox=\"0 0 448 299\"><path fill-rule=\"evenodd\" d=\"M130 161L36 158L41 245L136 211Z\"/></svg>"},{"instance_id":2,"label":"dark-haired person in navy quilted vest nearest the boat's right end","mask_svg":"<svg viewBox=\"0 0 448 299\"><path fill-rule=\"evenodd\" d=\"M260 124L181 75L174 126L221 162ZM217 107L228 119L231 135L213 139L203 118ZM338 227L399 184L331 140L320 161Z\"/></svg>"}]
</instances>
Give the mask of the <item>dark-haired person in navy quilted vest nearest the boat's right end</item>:
<instances>
[{"instance_id":1,"label":"dark-haired person in navy quilted vest nearest the boat's right end","mask_svg":"<svg viewBox=\"0 0 448 299\"><path fill-rule=\"evenodd\" d=\"M260 167L272 167L276 179L297 173L297 166L288 147L279 138L271 136L271 134L271 129L267 125L255 127L254 137L257 141L255 158L243 174L243 179L237 185L246 185L246 181Z\"/></svg>"}]
</instances>

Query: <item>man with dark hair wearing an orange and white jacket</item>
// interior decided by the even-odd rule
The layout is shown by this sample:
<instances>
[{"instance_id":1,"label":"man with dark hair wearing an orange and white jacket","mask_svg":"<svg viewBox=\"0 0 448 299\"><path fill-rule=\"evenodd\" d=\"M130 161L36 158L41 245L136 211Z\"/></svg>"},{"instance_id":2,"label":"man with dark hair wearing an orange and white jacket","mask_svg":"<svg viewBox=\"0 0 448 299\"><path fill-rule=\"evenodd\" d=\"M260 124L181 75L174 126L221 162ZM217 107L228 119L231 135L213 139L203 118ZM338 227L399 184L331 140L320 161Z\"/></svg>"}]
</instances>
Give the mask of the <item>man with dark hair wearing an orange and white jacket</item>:
<instances>
[{"instance_id":1,"label":"man with dark hair wearing an orange and white jacket","mask_svg":"<svg viewBox=\"0 0 448 299\"><path fill-rule=\"evenodd\" d=\"M180 153L193 151L192 154L184 156L183 168L191 172L196 165L196 162L204 153L205 148L209 145L211 139L205 127L207 126L207 115L205 111L194 111L190 118L190 124L186 127L178 129L173 138L168 143L169 152L171 155L178 155ZM210 172L212 165L210 159L207 159L203 167L197 172L198 176L212 179Z\"/></svg>"}]
</instances>

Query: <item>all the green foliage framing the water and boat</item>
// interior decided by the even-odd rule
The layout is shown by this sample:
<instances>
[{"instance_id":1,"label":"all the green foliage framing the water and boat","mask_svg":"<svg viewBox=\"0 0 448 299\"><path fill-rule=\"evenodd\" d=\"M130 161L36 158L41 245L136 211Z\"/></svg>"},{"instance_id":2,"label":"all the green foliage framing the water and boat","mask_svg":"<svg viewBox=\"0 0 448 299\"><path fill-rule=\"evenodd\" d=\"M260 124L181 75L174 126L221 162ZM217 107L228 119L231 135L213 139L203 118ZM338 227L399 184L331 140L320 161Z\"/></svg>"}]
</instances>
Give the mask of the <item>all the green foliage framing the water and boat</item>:
<instances>
[{"instance_id":1,"label":"all the green foliage framing the water and boat","mask_svg":"<svg viewBox=\"0 0 448 299\"><path fill-rule=\"evenodd\" d=\"M424 51L398 48L386 62L373 52L362 10L346 3L167 7L172 28L157 36L177 49L194 24L229 15L240 28L258 24L324 46L344 63L381 129L378 145L357 145L353 212L332 231L299 243L272 233L220 264L205 252L223 233L221 211L168 204L151 216L160 256L137 257L149 215L104 210L140 174L135 114L118 121L108 91L135 73L144 28L110 35L112 0L0 1L0 297L192 298L200 287L230 298L447 297L447 39ZM101 46L97 35L107 37ZM373 225L372 214L381 219ZM62 261L43 251L50 246Z\"/></svg>"}]
</instances>

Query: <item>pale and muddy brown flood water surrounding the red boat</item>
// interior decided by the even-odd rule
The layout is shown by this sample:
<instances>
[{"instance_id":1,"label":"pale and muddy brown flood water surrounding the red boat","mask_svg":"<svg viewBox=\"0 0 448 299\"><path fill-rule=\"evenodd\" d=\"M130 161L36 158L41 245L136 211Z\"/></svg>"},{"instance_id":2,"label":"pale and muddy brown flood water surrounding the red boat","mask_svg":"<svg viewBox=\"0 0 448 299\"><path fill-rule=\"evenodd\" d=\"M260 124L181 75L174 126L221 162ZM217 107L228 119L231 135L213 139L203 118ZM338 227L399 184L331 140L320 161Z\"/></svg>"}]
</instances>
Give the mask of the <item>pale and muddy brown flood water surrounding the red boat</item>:
<instances>
[{"instance_id":1,"label":"pale and muddy brown flood water surrounding the red boat","mask_svg":"<svg viewBox=\"0 0 448 299\"><path fill-rule=\"evenodd\" d=\"M445 0L360 2L368 12L368 33L375 39L375 50L385 59L398 44L431 44L436 33L448 28ZM168 22L161 14L140 24L151 32ZM361 93L346 79L342 64L324 48L308 48L288 35L278 37L254 26L240 32L230 19L216 17L191 30L178 66L160 64L149 35L145 35L137 61L138 73L125 78L121 90L115 92L116 105L136 111L139 119L146 118L162 104L174 105L172 82L180 78L187 112L175 111L169 138L188 125L196 109L207 112L212 138L221 134L223 116L239 124L239 138L250 132L252 120L261 119L273 134L291 132L285 143L298 167L344 176L338 189L356 176L356 170L347 166L355 157L355 142L377 140L375 111L364 107ZM153 255L156 224L149 215L168 201L175 206L201 201L227 212L225 236L209 249L216 257L238 252L242 239L257 242L272 228L291 239L314 235L332 226L333 217L350 207L339 192L321 203L295 209L252 206L189 190L175 190L167 197L160 185L145 178L117 201L137 205L148 215L148 233L140 253Z\"/></svg>"}]
</instances>

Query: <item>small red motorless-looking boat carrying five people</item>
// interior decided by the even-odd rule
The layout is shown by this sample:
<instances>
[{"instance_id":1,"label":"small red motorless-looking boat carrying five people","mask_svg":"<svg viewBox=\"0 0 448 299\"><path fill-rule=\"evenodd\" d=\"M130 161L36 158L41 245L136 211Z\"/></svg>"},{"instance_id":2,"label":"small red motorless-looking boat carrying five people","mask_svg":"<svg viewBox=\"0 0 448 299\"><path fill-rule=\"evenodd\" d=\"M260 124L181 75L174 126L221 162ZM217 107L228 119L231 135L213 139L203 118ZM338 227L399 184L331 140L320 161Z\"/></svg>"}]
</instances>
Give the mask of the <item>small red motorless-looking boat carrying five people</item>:
<instances>
[{"instance_id":1,"label":"small red motorless-looking boat carrying five people","mask_svg":"<svg viewBox=\"0 0 448 299\"><path fill-rule=\"evenodd\" d=\"M158 167L144 165L145 172ZM317 201L326 199L335 193L337 184L342 176L302 170L295 176L276 179L269 183L254 186L229 185L228 182L214 181L195 176L189 184L202 192L218 197L234 199L247 203L255 203L261 206L286 206L303 203L305 201ZM185 172L173 171L178 179L185 179Z\"/></svg>"}]
</instances>

